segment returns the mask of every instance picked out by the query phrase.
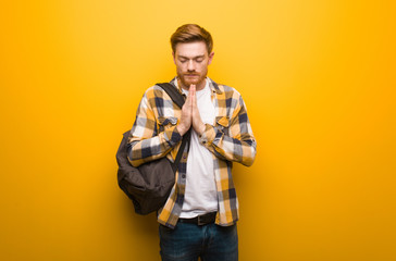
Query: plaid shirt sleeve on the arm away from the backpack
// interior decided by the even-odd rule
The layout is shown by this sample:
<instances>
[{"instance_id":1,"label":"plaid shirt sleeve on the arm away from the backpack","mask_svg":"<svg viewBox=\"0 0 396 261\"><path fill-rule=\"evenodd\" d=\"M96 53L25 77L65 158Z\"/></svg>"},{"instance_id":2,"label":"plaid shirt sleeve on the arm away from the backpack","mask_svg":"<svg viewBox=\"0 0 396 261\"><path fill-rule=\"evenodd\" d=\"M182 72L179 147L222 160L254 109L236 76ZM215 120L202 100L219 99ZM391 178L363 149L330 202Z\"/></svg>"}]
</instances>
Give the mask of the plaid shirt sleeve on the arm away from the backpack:
<instances>
[{"instance_id":1,"label":"plaid shirt sleeve on the arm away from the backpack","mask_svg":"<svg viewBox=\"0 0 396 261\"><path fill-rule=\"evenodd\" d=\"M228 122L224 120L225 123L216 126L206 124L200 142L220 159L249 166L255 161L257 144L240 95L237 100Z\"/></svg>"}]
</instances>

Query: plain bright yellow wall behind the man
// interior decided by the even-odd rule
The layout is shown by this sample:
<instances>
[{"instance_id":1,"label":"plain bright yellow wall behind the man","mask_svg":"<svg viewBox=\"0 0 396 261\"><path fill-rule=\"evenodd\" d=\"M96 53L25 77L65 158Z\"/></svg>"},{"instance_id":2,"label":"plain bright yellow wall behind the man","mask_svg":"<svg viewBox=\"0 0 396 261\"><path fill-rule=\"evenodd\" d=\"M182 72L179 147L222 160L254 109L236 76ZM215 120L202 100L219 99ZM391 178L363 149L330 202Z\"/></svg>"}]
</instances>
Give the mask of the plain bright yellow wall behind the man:
<instances>
[{"instance_id":1,"label":"plain bright yellow wall behind the man","mask_svg":"<svg viewBox=\"0 0 396 261\"><path fill-rule=\"evenodd\" d=\"M240 260L396 260L395 1L1 1L0 259L159 260L115 152L169 38L214 38L258 141Z\"/></svg>"}]
</instances>

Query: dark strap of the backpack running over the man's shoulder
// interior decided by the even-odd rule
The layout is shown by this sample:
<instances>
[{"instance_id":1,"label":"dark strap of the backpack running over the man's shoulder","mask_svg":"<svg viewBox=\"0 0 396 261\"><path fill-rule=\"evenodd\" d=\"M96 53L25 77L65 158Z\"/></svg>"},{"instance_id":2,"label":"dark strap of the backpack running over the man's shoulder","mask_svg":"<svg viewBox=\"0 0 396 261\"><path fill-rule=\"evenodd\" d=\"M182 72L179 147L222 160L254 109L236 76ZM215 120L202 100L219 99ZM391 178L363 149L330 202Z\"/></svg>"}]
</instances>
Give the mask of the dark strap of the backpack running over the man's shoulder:
<instances>
[{"instance_id":1,"label":"dark strap of the backpack running over the man's shoulder","mask_svg":"<svg viewBox=\"0 0 396 261\"><path fill-rule=\"evenodd\" d=\"M161 83L156 85L160 86L164 91L166 91L166 94L171 97L173 102L176 103L176 105L182 109L185 100L183 95L177 90L176 86L170 83ZM174 172L177 171L184 148L186 147L187 144L189 144L190 138L191 138L191 128L189 128L188 132L183 136L182 145L177 151L176 159L172 164L172 169Z\"/></svg>"}]
</instances>

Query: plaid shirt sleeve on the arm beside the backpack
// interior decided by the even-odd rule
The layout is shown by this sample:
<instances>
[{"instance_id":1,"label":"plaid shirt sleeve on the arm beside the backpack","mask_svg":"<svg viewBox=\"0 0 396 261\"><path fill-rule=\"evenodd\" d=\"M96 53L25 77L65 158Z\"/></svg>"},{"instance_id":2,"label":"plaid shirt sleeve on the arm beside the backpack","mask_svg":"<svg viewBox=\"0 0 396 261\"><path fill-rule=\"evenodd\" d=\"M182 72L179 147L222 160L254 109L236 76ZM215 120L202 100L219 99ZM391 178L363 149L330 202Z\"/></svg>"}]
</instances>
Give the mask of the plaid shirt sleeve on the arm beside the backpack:
<instances>
[{"instance_id":1,"label":"plaid shirt sleeve on the arm beside the backpack","mask_svg":"<svg viewBox=\"0 0 396 261\"><path fill-rule=\"evenodd\" d=\"M163 97L154 97L154 91L149 90L141 98L128 138L128 160L135 167L164 157L182 139L175 123L161 122L156 117L154 110L150 104L150 97L151 100L157 101L162 99L160 104L164 103ZM159 126L161 125L164 127L160 132Z\"/></svg>"}]
</instances>

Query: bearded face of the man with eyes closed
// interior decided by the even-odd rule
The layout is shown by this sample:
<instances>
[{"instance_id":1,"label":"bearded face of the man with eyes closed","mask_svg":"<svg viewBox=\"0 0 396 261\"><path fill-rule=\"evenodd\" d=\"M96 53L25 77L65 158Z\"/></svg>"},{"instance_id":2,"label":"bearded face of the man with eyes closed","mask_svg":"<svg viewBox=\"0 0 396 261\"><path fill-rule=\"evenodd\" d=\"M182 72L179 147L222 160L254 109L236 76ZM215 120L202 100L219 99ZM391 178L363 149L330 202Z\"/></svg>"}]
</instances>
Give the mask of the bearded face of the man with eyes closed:
<instances>
[{"instance_id":1,"label":"bearded face of the man with eyes closed","mask_svg":"<svg viewBox=\"0 0 396 261\"><path fill-rule=\"evenodd\" d=\"M203 41L176 45L173 61L182 88L188 89L191 84L196 85L197 90L205 87L208 65L212 62L213 55L213 52L208 53Z\"/></svg>"}]
</instances>

